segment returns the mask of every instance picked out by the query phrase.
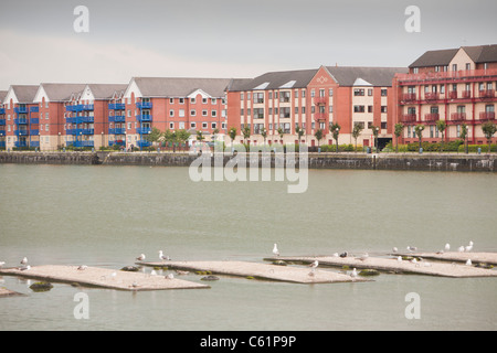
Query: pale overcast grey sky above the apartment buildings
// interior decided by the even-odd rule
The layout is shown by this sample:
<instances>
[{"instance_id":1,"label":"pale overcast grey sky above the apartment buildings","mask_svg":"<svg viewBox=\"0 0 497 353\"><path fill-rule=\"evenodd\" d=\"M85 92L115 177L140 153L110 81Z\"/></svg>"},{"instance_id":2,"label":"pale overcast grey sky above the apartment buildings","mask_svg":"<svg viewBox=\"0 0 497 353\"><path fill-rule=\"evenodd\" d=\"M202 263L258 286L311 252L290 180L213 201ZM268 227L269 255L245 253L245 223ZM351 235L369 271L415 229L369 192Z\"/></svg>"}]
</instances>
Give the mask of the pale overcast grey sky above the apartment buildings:
<instances>
[{"instance_id":1,"label":"pale overcast grey sky above the apartment buildings","mask_svg":"<svg viewBox=\"0 0 497 353\"><path fill-rule=\"evenodd\" d=\"M74 9L88 10L87 32ZM405 23L420 10L420 32ZM135 76L255 77L320 65L406 67L497 44L495 0L2 0L0 90Z\"/></svg>"}]
</instances>

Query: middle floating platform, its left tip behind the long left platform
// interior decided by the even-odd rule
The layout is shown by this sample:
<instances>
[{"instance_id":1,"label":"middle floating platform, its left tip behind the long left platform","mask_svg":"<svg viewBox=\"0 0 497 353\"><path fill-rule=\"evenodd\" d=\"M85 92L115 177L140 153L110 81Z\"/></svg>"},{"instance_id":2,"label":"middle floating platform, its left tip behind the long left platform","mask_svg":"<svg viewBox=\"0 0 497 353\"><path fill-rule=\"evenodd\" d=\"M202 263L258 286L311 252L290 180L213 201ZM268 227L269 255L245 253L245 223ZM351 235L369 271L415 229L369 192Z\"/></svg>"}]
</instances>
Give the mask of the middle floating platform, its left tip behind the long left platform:
<instances>
[{"instance_id":1,"label":"middle floating platform, its left tip behind the long left platform","mask_svg":"<svg viewBox=\"0 0 497 353\"><path fill-rule=\"evenodd\" d=\"M215 275L229 275L237 277L253 277L256 279L297 282L297 284L335 284L369 281L369 279L352 278L346 274L338 274L327 269L297 266L281 266L247 261L163 261L163 263L136 263L141 266L168 267L169 269L210 271Z\"/></svg>"}]
</instances>

